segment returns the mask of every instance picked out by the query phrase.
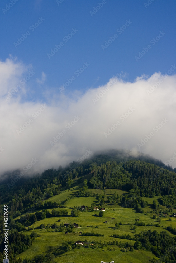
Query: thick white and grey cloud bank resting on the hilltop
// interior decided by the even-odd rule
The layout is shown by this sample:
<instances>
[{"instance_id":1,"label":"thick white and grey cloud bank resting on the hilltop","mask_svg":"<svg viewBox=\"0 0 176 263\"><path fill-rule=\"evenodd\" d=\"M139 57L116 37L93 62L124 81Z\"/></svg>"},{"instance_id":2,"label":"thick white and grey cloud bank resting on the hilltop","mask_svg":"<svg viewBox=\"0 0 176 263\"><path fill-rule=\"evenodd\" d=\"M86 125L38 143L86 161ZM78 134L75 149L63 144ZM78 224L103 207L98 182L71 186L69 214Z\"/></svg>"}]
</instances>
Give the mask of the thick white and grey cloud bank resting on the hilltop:
<instances>
[{"instance_id":1,"label":"thick white and grey cloud bank resting on the hilltop","mask_svg":"<svg viewBox=\"0 0 176 263\"><path fill-rule=\"evenodd\" d=\"M68 90L47 102L27 100L32 66L15 59L0 62L1 173L24 174L58 168L86 152L106 149L141 151L176 166L174 65L168 74L114 77L80 95ZM36 85L45 81L45 73ZM52 97L52 99L51 99ZM27 166L27 168L26 168ZM27 171L25 170L27 169Z\"/></svg>"}]
</instances>

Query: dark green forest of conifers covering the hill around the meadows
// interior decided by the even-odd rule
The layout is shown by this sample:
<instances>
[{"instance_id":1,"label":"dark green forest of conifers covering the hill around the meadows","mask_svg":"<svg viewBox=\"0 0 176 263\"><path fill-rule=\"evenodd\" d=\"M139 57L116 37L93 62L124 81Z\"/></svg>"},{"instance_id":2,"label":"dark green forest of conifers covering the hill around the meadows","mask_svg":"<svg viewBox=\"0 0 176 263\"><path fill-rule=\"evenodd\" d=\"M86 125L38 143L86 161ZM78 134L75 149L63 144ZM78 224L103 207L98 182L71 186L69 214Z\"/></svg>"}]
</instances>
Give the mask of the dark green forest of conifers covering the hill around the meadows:
<instances>
[{"instance_id":1,"label":"dark green forest of conifers covering the hill around the meadows","mask_svg":"<svg viewBox=\"0 0 176 263\"><path fill-rule=\"evenodd\" d=\"M128 160L122 162L120 159L124 158ZM115 154L111 154L111 156L98 155L92 159L85 160L82 164L73 162L66 168L60 166L58 170L48 169L41 175L38 174L31 178L20 178L13 185L11 184L13 178L1 184L0 253L3 252L3 203L8 204L8 225L10 228L8 236L10 243L9 255L12 258L14 257L14 260L10 263L16 262L15 256L26 251L34 241L29 235L24 235L21 231L26 230L26 227L28 227L28 230L33 230L33 227L31 227L32 224L46 218L68 216L68 210L63 210L63 208L66 207L65 205L69 200L74 198L89 198L92 196L97 198L100 206L106 206L112 202L112 205L118 205L123 208L133 208L137 213L142 214L144 213L144 208L148 206L148 202L143 198L158 197L158 206L167 206L167 210L165 209L165 211L162 210L160 212L161 216L164 216L164 213L171 213L172 209L176 208L175 171L171 167L165 169L166 167L161 161L156 161L149 157L147 158L148 162L144 160L144 156L141 157L142 160L136 160L135 158L130 160L130 158L131 156L123 156L123 158L120 158L120 155ZM156 163L158 165L156 165ZM18 174L17 172L15 176ZM89 180L86 179L83 181L82 177L86 175L89 175ZM75 191L74 194L67 196L63 203L50 201L50 198L52 200L53 196L59 196L61 193L64 193L64 191L70 189L73 184L75 186L79 185L78 190ZM103 195L94 193L95 189L102 189L104 193L106 193L106 189L119 189L125 191L126 194L120 196L115 193L109 196L107 201L104 201ZM62 210L55 210L58 208L62 208ZM155 201L153 202L152 208L154 211L156 210L156 214L158 214ZM52 209L52 211L49 209ZM80 206L75 205L70 216L78 216L79 210L81 211ZM91 205L89 210L94 210L93 205ZM20 218L15 219L16 217ZM157 220L160 224L160 220ZM160 226L157 222L153 224L154 227ZM146 224L144 222L135 222L134 225L143 226ZM43 228L45 228L44 226ZM55 227L57 227L58 231L63 231L63 224L60 226L55 224ZM118 228L118 226L115 226L115 229L116 228ZM175 235L176 230L173 229L172 226L170 226L170 228L167 226L167 230L169 233ZM138 239L141 243L138 244L138 249L142 249L143 247L160 257L160 255L164 255L166 251L162 247L160 250L157 250L156 247L160 246L160 239L165 237L170 240L170 236L167 233L163 233L160 236L156 232L153 232L153 234L151 232L140 233ZM137 237L132 240L136 240L137 242L136 238ZM154 239L158 240L158 243L155 242ZM142 245L145 244L145 242L147 245ZM175 240L172 238L170 242L174 243ZM124 247L125 245L123 248ZM2 257L2 254L0 254L0 256ZM162 262L170 263L172 259L173 263L175 262L173 261L174 257L175 250L172 251L171 256L167 255L168 261ZM42 262L47 262L47 260L48 257L46 257L46 259L44 258Z\"/></svg>"}]
</instances>

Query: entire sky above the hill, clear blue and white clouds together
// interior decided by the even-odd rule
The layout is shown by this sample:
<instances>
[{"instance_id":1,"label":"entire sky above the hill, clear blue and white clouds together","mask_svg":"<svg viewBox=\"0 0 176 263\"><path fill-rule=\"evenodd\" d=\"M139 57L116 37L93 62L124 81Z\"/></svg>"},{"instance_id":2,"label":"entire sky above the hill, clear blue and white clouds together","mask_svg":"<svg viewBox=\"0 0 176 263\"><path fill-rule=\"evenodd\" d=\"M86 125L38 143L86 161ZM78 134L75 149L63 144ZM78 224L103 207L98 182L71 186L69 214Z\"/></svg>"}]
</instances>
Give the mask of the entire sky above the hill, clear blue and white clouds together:
<instances>
[{"instance_id":1,"label":"entire sky above the hill, clear blue and white clouds together","mask_svg":"<svg viewBox=\"0 0 176 263\"><path fill-rule=\"evenodd\" d=\"M2 0L1 172L112 148L175 167L175 11L170 0Z\"/></svg>"}]
</instances>

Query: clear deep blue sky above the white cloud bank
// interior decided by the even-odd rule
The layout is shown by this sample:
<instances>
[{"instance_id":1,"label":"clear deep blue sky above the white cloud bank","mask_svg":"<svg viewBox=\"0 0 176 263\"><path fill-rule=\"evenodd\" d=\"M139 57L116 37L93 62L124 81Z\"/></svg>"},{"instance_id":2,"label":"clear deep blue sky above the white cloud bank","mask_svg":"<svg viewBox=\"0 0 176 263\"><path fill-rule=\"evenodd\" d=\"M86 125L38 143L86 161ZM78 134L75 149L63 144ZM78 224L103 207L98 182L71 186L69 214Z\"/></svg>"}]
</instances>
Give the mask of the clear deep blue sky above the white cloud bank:
<instances>
[{"instance_id":1,"label":"clear deep blue sky above the white cloud bank","mask_svg":"<svg viewBox=\"0 0 176 263\"><path fill-rule=\"evenodd\" d=\"M84 62L88 62L89 67L69 85L67 93L104 85L122 72L126 75L125 80L130 82L142 74L164 73L175 62L176 2L148 2L107 0L93 14L90 12L102 1L18 0L8 11L2 9L8 9L6 4L11 2L1 1L0 59L4 61L11 54L26 65L32 64L35 77L41 78L44 72L47 76L45 85L56 93L60 93L59 87ZM39 17L44 21L34 31L30 30ZM117 29L124 26L126 20L132 23L120 34ZM63 38L72 32L72 28L78 31L65 43ZM14 42L17 43L27 31L30 35L15 47ZM160 31L165 34L155 45L151 44ZM116 33L118 37L103 50L105 41ZM64 45L49 59L47 54L60 42ZM149 44L148 52L136 61L135 56ZM41 98L45 85L34 88L36 99Z\"/></svg>"}]
</instances>

